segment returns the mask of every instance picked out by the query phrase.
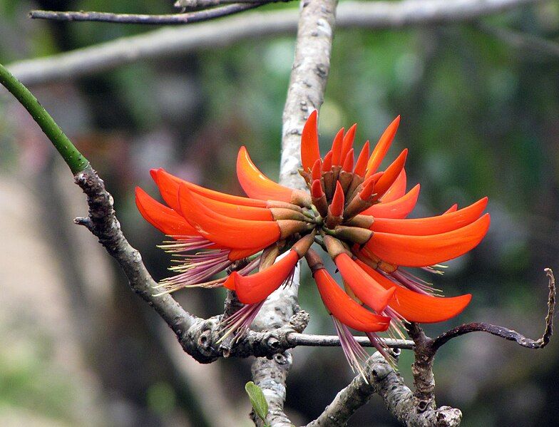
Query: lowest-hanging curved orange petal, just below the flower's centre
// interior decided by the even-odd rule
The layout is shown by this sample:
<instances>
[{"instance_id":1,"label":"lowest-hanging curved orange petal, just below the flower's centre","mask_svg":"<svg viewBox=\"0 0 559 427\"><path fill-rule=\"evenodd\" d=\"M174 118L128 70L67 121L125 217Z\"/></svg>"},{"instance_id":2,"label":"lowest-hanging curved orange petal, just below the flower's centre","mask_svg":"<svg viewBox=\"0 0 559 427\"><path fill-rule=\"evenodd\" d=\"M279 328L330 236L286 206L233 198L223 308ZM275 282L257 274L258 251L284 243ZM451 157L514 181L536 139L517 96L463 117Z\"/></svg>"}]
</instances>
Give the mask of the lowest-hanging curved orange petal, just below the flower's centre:
<instances>
[{"instance_id":1,"label":"lowest-hanging curved orange petal, just below the flower's centre","mask_svg":"<svg viewBox=\"0 0 559 427\"><path fill-rule=\"evenodd\" d=\"M361 307L330 276L326 269L317 269L314 274L318 292L329 312L343 324L361 332L386 331L390 318L379 316Z\"/></svg>"}]
</instances>

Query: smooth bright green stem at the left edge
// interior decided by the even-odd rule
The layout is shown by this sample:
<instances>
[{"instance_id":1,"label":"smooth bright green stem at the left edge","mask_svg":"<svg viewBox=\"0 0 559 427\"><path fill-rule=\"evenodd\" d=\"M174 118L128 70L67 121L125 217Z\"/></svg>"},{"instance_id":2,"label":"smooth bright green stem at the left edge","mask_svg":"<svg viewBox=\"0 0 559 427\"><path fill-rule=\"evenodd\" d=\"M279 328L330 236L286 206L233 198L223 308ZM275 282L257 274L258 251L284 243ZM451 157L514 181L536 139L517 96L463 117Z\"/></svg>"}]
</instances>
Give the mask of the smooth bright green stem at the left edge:
<instances>
[{"instance_id":1,"label":"smooth bright green stem at the left edge","mask_svg":"<svg viewBox=\"0 0 559 427\"><path fill-rule=\"evenodd\" d=\"M87 168L89 165L88 160L83 157L71 140L62 132L51 115L37 101L37 98L1 64L0 83L29 111L31 117L41 126L45 135L51 140L51 143L53 143L74 175Z\"/></svg>"}]
</instances>

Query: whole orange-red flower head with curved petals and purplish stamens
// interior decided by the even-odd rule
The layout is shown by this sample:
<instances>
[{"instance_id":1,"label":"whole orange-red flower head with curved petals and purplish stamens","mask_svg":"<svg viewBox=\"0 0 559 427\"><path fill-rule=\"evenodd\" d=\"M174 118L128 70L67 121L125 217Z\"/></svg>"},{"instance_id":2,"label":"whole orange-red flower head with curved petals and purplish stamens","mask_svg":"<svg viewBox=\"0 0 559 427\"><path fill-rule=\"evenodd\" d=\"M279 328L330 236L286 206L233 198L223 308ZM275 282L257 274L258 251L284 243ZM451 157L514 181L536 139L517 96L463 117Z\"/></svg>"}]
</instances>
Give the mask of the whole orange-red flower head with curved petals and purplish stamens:
<instances>
[{"instance_id":1,"label":"whole orange-red flower head with curved petals and purplish stamens","mask_svg":"<svg viewBox=\"0 0 559 427\"><path fill-rule=\"evenodd\" d=\"M489 215L483 215L487 198L459 210L453 205L442 215L408 219L419 195L419 184L406 192L408 150L379 171L399 121L386 128L370 155L367 141L355 161L353 125L337 133L332 150L321 158L313 111L302 131L299 170L309 192L267 178L245 147L237 156L237 178L248 197L151 170L167 205L140 188L136 204L145 220L172 237L162 247L178 257L170 268L178 274L160 282L161 294L184 287L235 291L244 306L222 321L222 339L230 334L238 339L266 298L291 282L304 257L344 354L359 371L366 353L348 328L364 332L388 359L376 332L391 327L401 335L403 321L432 323L461 313L470 294L440 297L428 282L401 267L441 273L441 262L476 247L489 227ZM334 261L344 289L311 249L314 242ZM227 274L216 277L220 272Z\"/></svg>"}]
</instances>

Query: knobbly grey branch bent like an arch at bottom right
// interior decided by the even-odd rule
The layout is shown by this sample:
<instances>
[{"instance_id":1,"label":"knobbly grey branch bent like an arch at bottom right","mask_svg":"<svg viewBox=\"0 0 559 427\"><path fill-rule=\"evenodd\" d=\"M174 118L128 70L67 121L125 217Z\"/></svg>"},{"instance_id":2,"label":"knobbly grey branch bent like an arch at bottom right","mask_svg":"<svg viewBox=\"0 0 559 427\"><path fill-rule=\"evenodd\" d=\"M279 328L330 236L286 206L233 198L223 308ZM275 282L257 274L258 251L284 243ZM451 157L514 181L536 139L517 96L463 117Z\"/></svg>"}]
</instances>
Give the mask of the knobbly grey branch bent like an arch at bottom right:
<instances>
[{"instance_id":1,"label":"knobbly grey branch bent like an arch at bottom right","mask_svg":"<svg viewBox=\"0 0 559 427\"><path fill-rule=\"evenodd\" d=\"M356 376L351 384L340 391L332 403L307 427L342 427L355 411L379 393L390 413L406 426L459 426L462 413L458 409L441 406L419 410L411 390L400 374L379 353L366 362L365 377Z\"/></svg>"}]
</instances>

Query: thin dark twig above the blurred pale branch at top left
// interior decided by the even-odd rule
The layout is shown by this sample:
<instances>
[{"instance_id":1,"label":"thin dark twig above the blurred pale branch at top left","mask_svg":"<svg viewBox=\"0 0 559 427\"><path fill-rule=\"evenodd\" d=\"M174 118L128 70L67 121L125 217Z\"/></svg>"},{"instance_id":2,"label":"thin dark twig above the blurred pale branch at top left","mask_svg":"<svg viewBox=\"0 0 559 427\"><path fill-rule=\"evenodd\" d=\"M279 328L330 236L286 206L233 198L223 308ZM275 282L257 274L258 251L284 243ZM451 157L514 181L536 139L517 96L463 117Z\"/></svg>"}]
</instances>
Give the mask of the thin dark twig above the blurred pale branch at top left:
<instances>
[{"instance_id":1,"label":"thin dark twig above the blurred pale branch at top left","mask_svg":"<svg viewBox=\"0 0 559 427\"><path fill-rule=\"evenodd\" d=\"M82 11L30 11L31 19L48 19L51 21L97 21L112 22L115 24L143 24L143 25L182 25L195 22L210 21L210 19L221 18L238 14L242 11L255 9L266 4L267 1L245 4L230 4L196 11L190 14L168 14L168 15L141 15L141 14L110 14L107 12L82 12Z\"/></svg>"}]
</instances>

